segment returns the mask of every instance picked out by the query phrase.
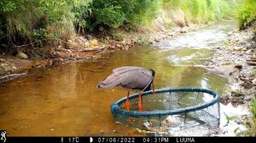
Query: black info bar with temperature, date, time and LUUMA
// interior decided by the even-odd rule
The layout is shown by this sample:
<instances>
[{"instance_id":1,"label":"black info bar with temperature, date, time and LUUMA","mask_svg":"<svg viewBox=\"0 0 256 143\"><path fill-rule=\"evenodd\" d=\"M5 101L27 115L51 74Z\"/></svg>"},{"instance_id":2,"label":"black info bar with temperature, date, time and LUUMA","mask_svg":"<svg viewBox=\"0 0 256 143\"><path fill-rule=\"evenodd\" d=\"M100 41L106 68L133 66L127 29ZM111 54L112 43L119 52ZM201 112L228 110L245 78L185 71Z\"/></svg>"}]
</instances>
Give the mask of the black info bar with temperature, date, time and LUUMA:
<instances>
[{"instance_id":1,"label":"black info bar with temperature, date, time and LUUMA","mask_svg":"<svg viewBox=\"0 0 256 143\"><path fill-rule=\"evenodd\" d=\"M4 140L5 139L5 140ZM207 143L207 142L232 142L232 143L241 143L241 142L254 142L255 137L100 137L100 136L55 136L55 137L14 137L8 136L6 138L1 138L0 143L35 143L35 142L53 142L53 143Z\"/></svg>"}]
</instances>

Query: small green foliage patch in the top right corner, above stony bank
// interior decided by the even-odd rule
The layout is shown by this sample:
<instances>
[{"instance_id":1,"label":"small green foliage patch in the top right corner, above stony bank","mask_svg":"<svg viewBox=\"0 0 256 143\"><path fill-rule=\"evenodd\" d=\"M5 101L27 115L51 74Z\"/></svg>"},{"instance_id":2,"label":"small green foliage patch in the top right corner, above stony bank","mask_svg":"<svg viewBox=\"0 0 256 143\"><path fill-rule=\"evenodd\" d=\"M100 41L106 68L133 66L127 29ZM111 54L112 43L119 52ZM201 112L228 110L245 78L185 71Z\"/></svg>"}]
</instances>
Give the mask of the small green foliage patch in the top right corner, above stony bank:
<instances>
[{"instance_id":1,"label":"small green foliage patch in the top right corner, above stony bank","mask_svg":"<svg viewBox=\"0 0 256 143\"><path fill-rule=\"evenodd\" d=\"M256 20L256 1L243 0L238 6L239 28L245 29L253 20Z\"/></svg>"}]
</instances>

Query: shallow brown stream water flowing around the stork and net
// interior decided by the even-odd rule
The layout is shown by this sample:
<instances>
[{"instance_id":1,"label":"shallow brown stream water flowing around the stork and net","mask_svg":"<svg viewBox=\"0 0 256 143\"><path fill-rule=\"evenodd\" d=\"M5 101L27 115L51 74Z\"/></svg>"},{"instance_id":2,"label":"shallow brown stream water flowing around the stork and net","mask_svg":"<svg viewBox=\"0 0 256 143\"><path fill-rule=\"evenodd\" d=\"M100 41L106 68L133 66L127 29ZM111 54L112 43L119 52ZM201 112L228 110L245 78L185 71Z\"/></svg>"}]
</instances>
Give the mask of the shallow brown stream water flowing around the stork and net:
<instances>
[{"instance_id":1,"label":"shallow brown stream water flowing around the stork and net","mask_svg":"<svg viewBox=\"0 0 256 143\"><path fill-rule=\"evenodd\" d=\"M222 94L227 79L204 72L201 65L235 26L224 22L160 41L154 47L106 52L91 61L33 69L25 77L0 84L0 129L14 136L144 135L113 120L110 105L127 92L96 89L96 83L116 67L143 66L156 72L156 89L193 86ZM221 111L230 110L243 109L221 105ZM221 121L221 129L229 127L224 126L223 112Z\"/></svg>"}]
</instances>

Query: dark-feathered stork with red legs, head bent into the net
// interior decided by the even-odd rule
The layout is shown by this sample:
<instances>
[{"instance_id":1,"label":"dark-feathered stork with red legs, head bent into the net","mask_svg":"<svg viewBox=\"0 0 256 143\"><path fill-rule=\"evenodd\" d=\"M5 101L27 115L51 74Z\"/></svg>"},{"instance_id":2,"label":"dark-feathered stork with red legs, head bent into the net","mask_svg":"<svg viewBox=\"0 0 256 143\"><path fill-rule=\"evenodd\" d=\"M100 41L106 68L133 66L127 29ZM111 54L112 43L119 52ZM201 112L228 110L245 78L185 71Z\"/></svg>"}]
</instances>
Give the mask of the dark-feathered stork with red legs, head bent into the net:
<instances>
[{"instance_id":1,"label":"dark-feathered stork with red legs, head bent into the net","mask_svg":"<svg viewBox=\"0 0 256 143\"><path fill-rule=\"evenodd\" d=\"M130 111L129 94L130 90L139 91L138 109L142 111L142 93L153 87L154 93L154 70L144 69L139 66L122 66L113 69L111 75L97 83L97 88L113 89L122 87L128 90L125 106L127 111ZM155 93L154 93L155 94Z\"/></svg>"}]
</instances>

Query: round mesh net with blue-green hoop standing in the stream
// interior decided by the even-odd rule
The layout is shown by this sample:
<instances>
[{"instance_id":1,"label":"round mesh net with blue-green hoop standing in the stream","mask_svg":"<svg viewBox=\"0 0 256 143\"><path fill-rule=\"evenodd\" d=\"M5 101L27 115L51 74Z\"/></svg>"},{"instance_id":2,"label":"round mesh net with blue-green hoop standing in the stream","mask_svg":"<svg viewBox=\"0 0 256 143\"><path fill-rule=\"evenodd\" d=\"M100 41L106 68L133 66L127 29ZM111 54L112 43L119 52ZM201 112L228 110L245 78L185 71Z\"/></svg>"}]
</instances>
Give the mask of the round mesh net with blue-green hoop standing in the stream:
<instances>
[{"instance_id":1,"label":"round mesh net with blue-green hoop standing in the stream","mask_svg":"<svg viewBox=\"0 0 256 143\"><path fill-rule=\"evenodd\" d=\"M219 97L209 89L182 88L157 89L143 93L143 112L138 112L138 94L130 95L130 111L126 111L125 98L114 102L111 112L116 122L148 131L183 135L193 129L200 132L219 124ZM201 133L200 133L201 134Z\"/></svg>"}]
</instances>

